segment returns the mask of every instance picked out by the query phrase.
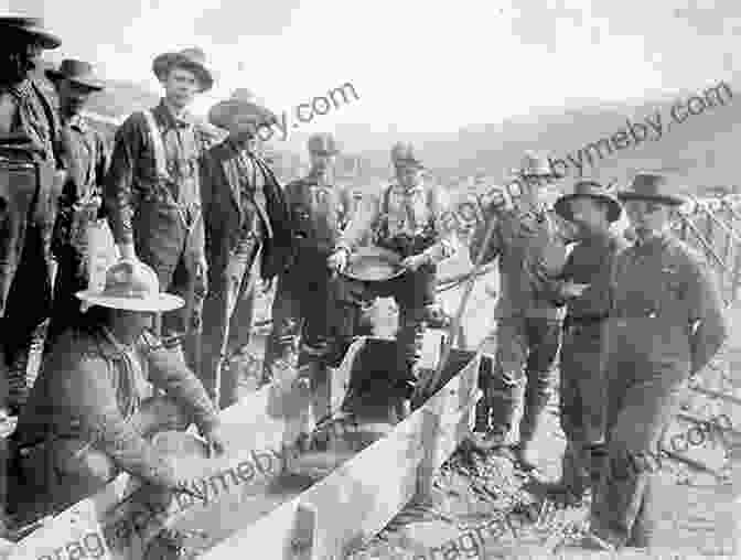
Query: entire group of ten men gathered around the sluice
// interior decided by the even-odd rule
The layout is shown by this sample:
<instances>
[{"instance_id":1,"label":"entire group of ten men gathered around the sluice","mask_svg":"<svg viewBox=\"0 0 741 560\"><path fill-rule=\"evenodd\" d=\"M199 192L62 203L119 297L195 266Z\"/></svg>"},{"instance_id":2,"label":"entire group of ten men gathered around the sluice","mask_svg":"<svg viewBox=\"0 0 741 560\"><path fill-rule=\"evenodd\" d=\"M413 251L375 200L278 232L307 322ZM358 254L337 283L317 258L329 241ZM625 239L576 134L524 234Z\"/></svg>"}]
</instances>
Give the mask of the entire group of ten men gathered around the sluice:
<instances>
[{"instance_id":1,"label":"entire group of ten men gathered around the sluice","mask_svg":"<svg viewBox=\"0 0 741 560\"><path fill-rule=\"evenodd\" d=\"M23 492L11 503L43 496L45 507L63 507L121 470L192 492L193 473L150 439L195 423L224 449L217 410L237 401L238 388L227 363L248 342L240 316L260 280L278 278L266 377L292 359L300 340L297 383L311 389L316 419L331 412L329 374L355 332L358 304L395 298L408 412L438 265L458 247L443 193L423 180L412 146L393 148L396 180L355 209L333 181L340 150L330 134L310 139L310 174L282 189L256 138L276 116L248 91L210 110L211 123L228 132L216 144L190 117L194 97L214 82L203 52L190 49L154 58L162 100L131 115L108 153L80 117L103 88L92 66L67 60L49 73L57 112L30 73L41 50L61 41L29 18L0 19L0 159L7 176L31 165L36 177L25 196L14 175L0 185L0 383L51 316L43 367L13 435L11 491ZM727 335L722 304L701 258L669 229L683 201L666 176L641 173L618 197L580 181L549 209L543 193L558 179L548 158L528 153L522 193L493 202L473 236L472 260L483 251L501 271L475 441L535 466L531 444L560 348L568 448L559 488L580 499L594 486L592 546L643 546L653 475L616 478L610 470L654 451L683 385ZM630 243L612 228L623 212ZM88 286L86 231L104 219L120 260L104 286ZM402 273L378 282L345 274L363 243L397 256Z\"/></svg>"}]
</instances>

